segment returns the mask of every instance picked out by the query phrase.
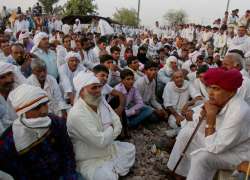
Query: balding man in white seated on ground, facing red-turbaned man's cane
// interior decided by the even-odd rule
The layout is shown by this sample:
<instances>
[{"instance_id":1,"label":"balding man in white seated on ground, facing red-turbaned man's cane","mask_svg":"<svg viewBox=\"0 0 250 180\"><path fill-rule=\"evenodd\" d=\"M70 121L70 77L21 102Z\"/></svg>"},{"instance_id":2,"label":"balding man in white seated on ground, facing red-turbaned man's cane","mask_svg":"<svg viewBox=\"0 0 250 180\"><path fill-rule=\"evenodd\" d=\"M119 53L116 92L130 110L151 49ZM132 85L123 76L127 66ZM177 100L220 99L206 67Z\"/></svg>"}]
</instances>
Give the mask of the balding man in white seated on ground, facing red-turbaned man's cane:
<instances>
[{"instance_id":1,"label":"balding man in white seated on ground, facing red-turbaned man's cane","mask_svg":"<svg viewBox=\"0 0 250 180\"><path fill-rule=\"evenodd\" d=\"M168 124L172 128L167 131L169 137L174 137L178 134L181 122L185 119L182 115L185 114L185 106L193 105L195 98L200 97L200 93L195 94L191 92L190 84L184 80L182 71L174 72L172 80L167 83L162 96L164 107L171 113L168 118ZM194 101L188 103L190 97Z\"/></svg>"}]
</instances>

